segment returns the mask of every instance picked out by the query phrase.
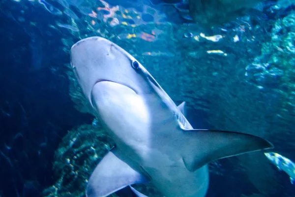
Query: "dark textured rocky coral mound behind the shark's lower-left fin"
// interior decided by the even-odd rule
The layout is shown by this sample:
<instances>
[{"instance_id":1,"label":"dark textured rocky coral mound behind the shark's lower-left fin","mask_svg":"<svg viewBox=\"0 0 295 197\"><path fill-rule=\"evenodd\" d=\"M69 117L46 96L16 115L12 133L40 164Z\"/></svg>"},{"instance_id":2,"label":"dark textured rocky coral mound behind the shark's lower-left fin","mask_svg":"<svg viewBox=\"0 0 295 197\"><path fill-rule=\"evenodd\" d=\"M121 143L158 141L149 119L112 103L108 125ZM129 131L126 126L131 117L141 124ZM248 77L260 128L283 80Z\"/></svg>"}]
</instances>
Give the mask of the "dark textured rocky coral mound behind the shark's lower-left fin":
<instances>
[{"instance_id":1,"label":"dark textured rocky coral mound behind the shark's lower-left fin","mask_svg":"<svg viewBox=\"0 0 295 197\"><path fill-rule=\"evenodd\" d=\"M44 197L82 197L88 178L101 158L114 146L98 126L82 125L68 131L55 152L56 183L43 191Z\"/></svg>"}]
</instances>

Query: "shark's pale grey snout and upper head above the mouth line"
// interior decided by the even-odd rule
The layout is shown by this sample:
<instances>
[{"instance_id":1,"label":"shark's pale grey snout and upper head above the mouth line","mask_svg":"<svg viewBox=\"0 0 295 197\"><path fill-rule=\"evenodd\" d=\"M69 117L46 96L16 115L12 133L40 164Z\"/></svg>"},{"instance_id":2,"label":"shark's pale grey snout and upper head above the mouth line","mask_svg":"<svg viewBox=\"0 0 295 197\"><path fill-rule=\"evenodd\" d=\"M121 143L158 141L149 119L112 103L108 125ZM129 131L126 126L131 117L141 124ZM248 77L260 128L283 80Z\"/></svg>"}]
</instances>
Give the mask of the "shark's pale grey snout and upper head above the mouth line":
<instances>
[{"instance_id":1,"label":"shark's pale grey snout and upper head above the mouth line","mask_svg":"<svg viewBox=\"0 0 295 197\"><path fill-rule=\"evenodd\" d=\"M89 101L93 87L100 82L117 83L137 94L147 90L142 88L146 85L144 67L121 47L102 37L89 37L73 45L71 66Z\"/></svg>"}]
</instances>

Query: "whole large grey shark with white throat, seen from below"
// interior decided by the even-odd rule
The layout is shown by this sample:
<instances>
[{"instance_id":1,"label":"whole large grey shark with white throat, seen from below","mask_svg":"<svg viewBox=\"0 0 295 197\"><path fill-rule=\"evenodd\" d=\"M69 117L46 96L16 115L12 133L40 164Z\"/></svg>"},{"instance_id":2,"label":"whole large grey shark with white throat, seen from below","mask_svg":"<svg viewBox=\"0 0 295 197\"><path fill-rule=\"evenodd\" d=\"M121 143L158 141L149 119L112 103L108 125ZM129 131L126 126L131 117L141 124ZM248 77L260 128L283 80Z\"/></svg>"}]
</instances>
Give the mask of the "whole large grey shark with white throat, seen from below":
<instances>
[{"instance_id":1,"label":"whole large grey shark with white throat, seen from below","mask_svg":"<svg viewBox=\"0 0 295 197\"><path fill-rule=\"evenodd\" d=\"M151 182L165 197L205 197L207 163L272 148L265 139L229 131L194 130L179 107L129 53L102 37L71 48L71 66L116 146L97 164L87 197L106 197Z\"/></svg>"}]
</instances>

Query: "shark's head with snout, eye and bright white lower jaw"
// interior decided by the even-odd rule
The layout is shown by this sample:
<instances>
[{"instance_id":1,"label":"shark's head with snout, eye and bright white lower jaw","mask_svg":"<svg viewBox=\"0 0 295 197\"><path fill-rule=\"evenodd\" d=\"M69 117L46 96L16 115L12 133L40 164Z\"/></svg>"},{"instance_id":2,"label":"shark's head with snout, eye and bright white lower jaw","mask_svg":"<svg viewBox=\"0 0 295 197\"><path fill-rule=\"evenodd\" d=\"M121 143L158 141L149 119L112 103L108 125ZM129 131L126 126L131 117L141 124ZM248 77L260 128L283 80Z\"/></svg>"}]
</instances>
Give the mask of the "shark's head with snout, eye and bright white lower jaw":
<instances>
[{"instance_id":1,"label":"shark's head with snout, eye and bright white lower jaw","mask_svg":"<svg viewBox=\"0 0 295 197\"><path fill-rule=\"evenodd\" d=\"M112 131L148 127L144 101L160 86L134 57L102 37L89 37L71 48L71 66L86 98ZM151 94L155 95L155 94ZM114 124L115 123L115 124Z\"/></svg>"}]
</instances>

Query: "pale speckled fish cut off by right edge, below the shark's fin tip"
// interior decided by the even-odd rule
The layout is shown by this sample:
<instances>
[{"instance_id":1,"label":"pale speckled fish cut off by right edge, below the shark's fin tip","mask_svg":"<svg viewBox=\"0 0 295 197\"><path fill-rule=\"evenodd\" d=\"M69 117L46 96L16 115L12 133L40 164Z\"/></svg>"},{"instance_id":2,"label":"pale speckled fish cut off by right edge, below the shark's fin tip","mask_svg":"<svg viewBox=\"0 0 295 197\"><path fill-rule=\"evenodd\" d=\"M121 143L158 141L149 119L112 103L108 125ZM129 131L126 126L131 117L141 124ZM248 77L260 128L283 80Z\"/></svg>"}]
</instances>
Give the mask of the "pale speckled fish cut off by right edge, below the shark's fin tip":
<instances>
[{"instance_id":1,"label":"pale speckled fish cut off by right edge, below the shark's fin tip","mask_svg":"<svg viewBox=\"0 0 295 197\"><path fill-rule=\"evenodd\" d=\"M275 164L279 170L285 171L290 176L290 182L294 184L295 181L295 163L288 158L274 152L265 153L267 159Z\"/></svg>"}]
</instances>

